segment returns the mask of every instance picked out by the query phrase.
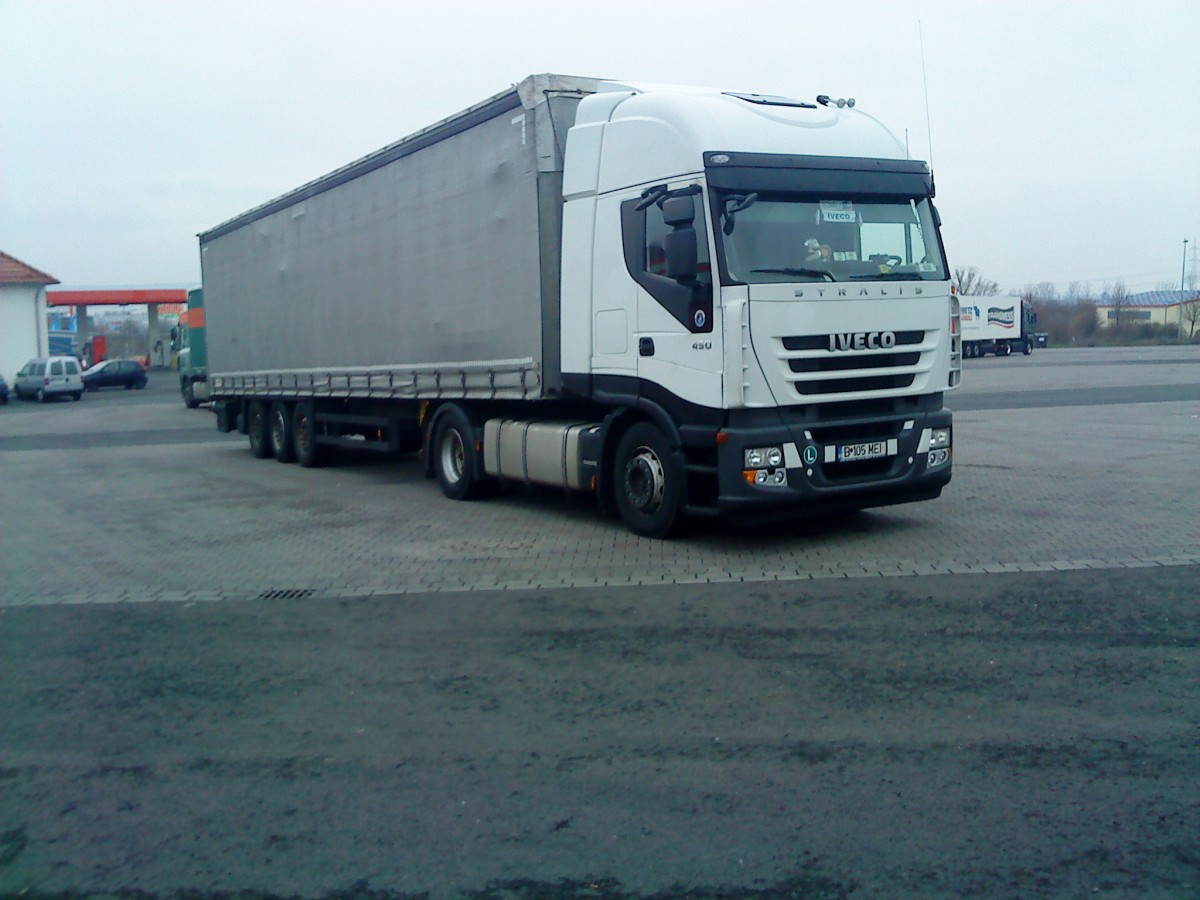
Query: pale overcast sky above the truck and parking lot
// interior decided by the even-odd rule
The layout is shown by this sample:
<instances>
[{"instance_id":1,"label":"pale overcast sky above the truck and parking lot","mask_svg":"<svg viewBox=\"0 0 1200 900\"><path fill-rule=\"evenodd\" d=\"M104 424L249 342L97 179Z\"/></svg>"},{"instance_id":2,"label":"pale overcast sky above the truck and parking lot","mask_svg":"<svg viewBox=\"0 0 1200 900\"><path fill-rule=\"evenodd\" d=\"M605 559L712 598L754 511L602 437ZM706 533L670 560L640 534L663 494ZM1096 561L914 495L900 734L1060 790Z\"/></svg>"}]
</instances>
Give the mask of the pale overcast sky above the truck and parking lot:
<instances>
[{"instance_id":1,"label":"pale overcast sky above the truck and parking lot","mask_svg":"<svg viewBox=\"0 0 1200 900\"><path fill-rule=\"evenodd\" d=\"M0 0L0 250L198 284L198 232L535 72L853 96L1006 292L1178 287L1200 241L1196 0Z\"/></svg>"}]
</instances>

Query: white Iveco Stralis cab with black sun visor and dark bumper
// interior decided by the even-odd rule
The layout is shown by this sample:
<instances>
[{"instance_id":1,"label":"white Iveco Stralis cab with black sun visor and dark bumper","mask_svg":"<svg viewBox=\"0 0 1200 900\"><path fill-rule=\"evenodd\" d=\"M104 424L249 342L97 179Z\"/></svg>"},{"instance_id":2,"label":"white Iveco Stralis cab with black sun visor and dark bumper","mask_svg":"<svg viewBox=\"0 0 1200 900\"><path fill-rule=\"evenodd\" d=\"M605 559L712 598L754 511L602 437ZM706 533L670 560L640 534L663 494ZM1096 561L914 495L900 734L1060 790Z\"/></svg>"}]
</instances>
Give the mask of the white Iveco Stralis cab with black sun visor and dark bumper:
<instances>
[{"instance_id":1,"label":"white Iveco Stralis cab with black sun visor and dark bumper","mask_svg":"<svg viewBox=\"0 0 1200 900\"><path fill-rule=\"evenodd\" d=\"M932 176L882 125L785 97L598 92L566 160L564 248L592 252L564 250L564 385L679 448L688 511L941 492L958 310Z\"/></svg>"}]
</instances>

